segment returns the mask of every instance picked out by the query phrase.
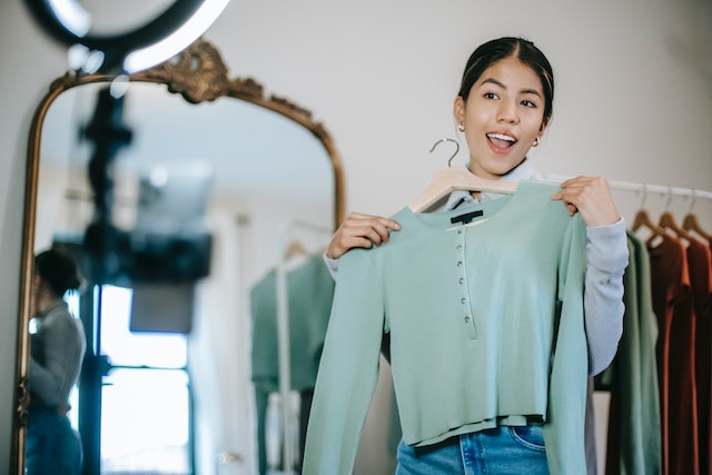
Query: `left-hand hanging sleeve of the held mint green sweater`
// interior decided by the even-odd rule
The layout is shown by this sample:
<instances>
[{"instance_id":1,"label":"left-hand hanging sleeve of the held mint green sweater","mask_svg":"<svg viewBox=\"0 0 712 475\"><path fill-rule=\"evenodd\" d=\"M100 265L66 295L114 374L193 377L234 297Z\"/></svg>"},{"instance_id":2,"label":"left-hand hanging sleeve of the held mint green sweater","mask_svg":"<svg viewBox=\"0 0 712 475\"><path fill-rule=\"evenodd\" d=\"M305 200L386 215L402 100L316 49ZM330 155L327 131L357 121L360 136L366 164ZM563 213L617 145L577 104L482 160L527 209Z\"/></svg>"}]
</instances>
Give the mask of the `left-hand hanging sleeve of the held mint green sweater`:
<instances>
[{"instance_id":1,"label":"left-hand hanging sleeve of the held mint green sweater","mask_svg":"<svg viewBox=\"0 0 712 475\"><path fill-rule=\"evenodd\" d=\"M370 259L348 263L358 255L354 250L342 257L307 428L304 473L309 475L352 472L378 380L382 289Z\"/></svg>"}]
</instances>

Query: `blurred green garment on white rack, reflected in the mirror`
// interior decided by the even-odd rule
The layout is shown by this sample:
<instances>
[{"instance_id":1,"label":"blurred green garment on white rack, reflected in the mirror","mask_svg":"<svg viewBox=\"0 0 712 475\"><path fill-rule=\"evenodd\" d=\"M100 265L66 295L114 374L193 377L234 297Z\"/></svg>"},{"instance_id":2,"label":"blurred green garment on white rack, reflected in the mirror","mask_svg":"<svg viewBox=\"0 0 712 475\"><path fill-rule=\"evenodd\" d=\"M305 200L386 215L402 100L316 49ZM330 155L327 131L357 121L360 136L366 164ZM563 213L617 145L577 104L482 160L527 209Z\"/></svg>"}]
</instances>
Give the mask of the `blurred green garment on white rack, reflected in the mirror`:
<instances>
[{"instance_id":1,"label":"blurred green garment on white rack, reflected in the mirror","mask_svg":"<svg viewBox=\"0 0 712 475\"><path fill-rule=\"evenodd\" d=\"M270 393L279 390L279 346L277 339L277 279L270 271L250 290L253 318L253 382L257 406L259 473L267 473L265 419ZM306 423L312 394L332 311L334 279L322 256L309 256L287 273L289 313L290 388L300 393L300 454L304 454Z\"/></svg>"}]
</instances>

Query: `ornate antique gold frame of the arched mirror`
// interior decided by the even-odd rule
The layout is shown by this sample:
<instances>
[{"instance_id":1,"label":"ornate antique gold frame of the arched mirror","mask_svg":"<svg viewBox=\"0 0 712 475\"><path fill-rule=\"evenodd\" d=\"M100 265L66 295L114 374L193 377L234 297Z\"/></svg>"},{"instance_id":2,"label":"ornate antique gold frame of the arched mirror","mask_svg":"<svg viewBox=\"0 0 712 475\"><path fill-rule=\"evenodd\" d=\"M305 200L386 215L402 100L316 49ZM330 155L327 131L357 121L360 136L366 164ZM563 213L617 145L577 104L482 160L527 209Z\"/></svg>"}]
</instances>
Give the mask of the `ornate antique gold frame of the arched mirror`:
<instances>
[{"instance_id":1,"label":"ornate antique gold frame of the arched mirror","mask_svg":"<svg viewBox=\"0 0 712 475\"><path fill-rule=\"evenodd\" d=\"M67 72L56 79L38 106L30 128L24 194L24 220L21 255L20 318L18 325L18 357L16 365L16 408L12 420L13 439L11 466L23 471L24 429L29 404L27 375L29 368L30 290L36 238L40 145L44 118L53 101L65 91L93 82L109 82L115 76ZM240 99L284 116L312 132L324 146L334 172L334 226L344 218L344 178L339 156L324 126L315 121L312 112L294 102L266 96L264 87L251 78L228 77L218 50L208 41L198 39L171 60L151 69L129 76L130 81L166 85L169 92L181 95L190 103L210 102L221 97Z\"/></svg>"}]
</instances>

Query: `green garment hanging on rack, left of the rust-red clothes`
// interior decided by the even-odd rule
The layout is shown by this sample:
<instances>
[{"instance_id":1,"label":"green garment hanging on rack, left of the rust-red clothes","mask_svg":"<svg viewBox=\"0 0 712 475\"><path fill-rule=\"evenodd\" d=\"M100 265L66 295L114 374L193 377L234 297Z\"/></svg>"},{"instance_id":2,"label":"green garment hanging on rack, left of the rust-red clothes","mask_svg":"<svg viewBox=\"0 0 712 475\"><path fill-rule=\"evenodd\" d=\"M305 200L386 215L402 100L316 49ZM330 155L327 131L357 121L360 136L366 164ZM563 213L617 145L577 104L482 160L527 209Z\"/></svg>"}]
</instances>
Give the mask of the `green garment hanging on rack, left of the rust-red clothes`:
<instances>
[{"instance_id":1,"label":"green garment hanging on rack, left of the rust-red clothes","mask_svg":"<svg viewBox=\"0 0 712 475\"><path fill-rule=\"evenodd\" d=\"M655 343L657 319L651 295L647 248L629 232L629 266L623 277L624 330L619 353L596 376L596 388L611 393L606 475L661 473L660 393Z\"/></svg>"}]
</instances>

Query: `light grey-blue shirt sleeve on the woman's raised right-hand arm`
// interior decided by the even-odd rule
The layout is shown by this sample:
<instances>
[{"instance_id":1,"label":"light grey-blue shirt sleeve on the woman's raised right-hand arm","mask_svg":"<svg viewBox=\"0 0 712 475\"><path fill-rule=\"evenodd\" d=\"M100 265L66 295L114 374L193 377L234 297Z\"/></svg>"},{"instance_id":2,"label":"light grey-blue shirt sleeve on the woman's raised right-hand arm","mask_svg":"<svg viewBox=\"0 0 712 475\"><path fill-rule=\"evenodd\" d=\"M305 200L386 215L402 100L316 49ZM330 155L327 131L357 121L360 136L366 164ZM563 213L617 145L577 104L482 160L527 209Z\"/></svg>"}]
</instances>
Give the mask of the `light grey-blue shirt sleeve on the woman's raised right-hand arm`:
<instances>
[{"instance_id":1,"label":"light grey-blue shirt sleeve on the woman's raised right-hand arm","mask_svg":"<svg viewBox=\"0 0 712 475\"><path fill-rule=\"evenodd\" d=\"M584 315L589 373L604 370L615 357L623 334L623 274L629 249L625 222L586 229Z\"/></svg>"}]
</instances>

